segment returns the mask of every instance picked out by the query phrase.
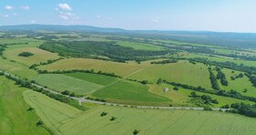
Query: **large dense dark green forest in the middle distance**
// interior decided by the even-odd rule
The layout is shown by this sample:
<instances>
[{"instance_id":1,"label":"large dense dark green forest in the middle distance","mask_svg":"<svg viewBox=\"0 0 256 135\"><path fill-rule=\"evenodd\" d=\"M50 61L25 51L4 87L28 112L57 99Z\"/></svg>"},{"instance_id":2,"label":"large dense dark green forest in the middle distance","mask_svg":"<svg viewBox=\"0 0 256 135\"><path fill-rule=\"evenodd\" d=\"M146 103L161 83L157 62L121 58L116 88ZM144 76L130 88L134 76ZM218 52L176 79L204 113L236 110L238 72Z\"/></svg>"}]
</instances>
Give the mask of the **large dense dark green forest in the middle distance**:
<instances>
[{"instance_id":1,"label":"large dense dark green forest in the middle distance","mask_svg":"<svg viewBox=\"0 0 256 135\"><path fill-rule=\"evenodd\" d=\"M110 57L115 61L144 61L150 57L175 54L174 50L146 51L135 50L132 47L121 47L115 42L98 41L49 41L40 48L59 53L62 57Z\"/></svg>"}]
</instances>

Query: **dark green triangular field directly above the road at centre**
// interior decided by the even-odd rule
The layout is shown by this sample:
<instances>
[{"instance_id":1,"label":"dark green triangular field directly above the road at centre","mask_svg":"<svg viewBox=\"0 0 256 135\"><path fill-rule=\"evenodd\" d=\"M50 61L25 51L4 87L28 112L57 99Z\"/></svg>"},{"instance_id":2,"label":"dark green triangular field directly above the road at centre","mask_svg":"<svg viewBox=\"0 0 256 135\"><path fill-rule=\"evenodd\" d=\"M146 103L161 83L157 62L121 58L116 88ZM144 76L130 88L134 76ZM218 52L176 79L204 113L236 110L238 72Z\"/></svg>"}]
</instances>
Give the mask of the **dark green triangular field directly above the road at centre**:
<instances>
[{"instance_id":1,"label":"dark green triangular field directly above the road at centre","mask_svg":"<svg viewBox=\"0 0 256 135\"><path fill-rule=\"evenodd\" d=\"M147 86L138 82L119 80L92 94L93 97L127 102L168 102L161 96L149 92Z\"/></svg>"}]
</instances>

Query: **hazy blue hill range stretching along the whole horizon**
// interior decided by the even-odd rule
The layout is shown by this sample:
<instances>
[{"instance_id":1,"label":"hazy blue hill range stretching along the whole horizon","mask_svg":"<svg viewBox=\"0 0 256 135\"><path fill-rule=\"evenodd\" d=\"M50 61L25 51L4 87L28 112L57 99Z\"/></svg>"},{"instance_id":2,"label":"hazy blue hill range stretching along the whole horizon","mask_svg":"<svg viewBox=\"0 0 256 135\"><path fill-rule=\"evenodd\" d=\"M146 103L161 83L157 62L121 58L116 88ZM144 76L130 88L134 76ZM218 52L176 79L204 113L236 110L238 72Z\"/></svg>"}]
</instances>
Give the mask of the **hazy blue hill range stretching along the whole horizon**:
<instances>
[{"instance_id":1,"label":"hazy blue hill range stretching along the whole horizon","mask_svg":"<svg viewBox=\"0 0 256 135\"><path fill-rule=\"evenodd\" d=\"M61 25L19 25L0 26L0 31L47 30L112 33L126 36L157 37L168 40L224 47L256 48L255 33L230 33L210 31L161 31L161 30L125 30L121 28L103 28L96 26L61 26Z\"/></svg>"}]
</instances>

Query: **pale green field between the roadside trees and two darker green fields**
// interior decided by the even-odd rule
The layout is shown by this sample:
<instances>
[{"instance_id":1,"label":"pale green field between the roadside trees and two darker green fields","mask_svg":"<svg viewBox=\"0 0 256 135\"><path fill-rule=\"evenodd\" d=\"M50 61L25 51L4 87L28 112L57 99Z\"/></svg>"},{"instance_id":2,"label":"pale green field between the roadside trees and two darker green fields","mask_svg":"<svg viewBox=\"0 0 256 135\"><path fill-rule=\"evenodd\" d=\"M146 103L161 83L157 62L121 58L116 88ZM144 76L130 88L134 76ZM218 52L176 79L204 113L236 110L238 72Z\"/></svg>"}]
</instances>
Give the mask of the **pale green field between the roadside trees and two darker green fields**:
<instances>
[{"instance_id":1,"label":"pale green field between the roadside trees and two darker green fields","mask_svg":"<svg viewBox=\"0 0 256 135\"><path fill-rule=\"evenodd\" d=\"M79 95L91 93L99 88L101 85L91 83L89 81L81 80L79 78L72 78L59 74L40 74L36 78L37 83L48 88L53 88L57 91L69 90Z\"/></svg>"}]
</instances>

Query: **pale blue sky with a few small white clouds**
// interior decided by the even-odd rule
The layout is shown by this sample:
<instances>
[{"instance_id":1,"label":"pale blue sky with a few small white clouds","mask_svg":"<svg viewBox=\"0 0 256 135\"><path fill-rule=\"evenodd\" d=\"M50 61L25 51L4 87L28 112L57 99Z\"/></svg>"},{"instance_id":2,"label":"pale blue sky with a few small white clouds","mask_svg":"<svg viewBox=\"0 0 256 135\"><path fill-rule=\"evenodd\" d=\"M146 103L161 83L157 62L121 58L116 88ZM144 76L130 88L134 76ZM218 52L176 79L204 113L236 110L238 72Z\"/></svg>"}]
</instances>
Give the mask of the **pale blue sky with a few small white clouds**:
<instances>
[{"instance_id":1,"label":"pale blue sky with a few small white clouds","mask_svg":"<svg viewBox=\"0 0 256 135\"><path fill-rule=\"evenodd\" d=\"M256 1L0 0L0 26L20 24L256 33Z\"/></svg>"}]
</instances>

